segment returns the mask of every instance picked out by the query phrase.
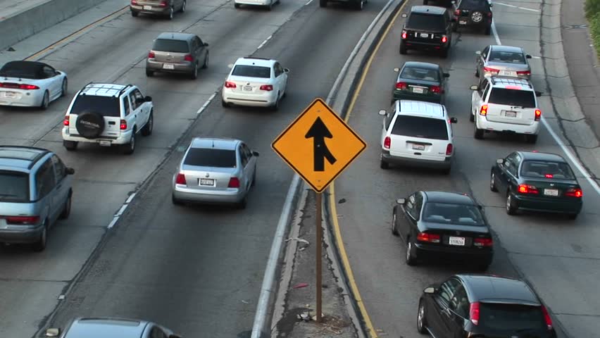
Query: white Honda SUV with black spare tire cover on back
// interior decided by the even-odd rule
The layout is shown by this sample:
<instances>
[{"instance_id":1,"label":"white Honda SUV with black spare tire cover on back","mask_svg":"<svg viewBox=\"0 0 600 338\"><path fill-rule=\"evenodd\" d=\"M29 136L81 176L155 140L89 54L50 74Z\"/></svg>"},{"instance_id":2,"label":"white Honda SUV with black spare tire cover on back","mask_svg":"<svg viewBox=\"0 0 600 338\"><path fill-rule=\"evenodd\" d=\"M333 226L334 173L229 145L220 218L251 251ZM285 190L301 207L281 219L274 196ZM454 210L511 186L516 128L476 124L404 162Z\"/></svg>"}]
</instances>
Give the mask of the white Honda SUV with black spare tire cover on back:
<instances>
[{"instance_id":1,"label":"white Honda SUV with black spare tire cover on back","mask_svg":"<svg viewBox=\"0 0 600 338\"><path fill-rule=\"evenodd\" d=\"M132 84L90 83L71 101L65 115L63 144L69 151L80 142L120 146L133 154L137 133L152 134L154 105Z\"/></svg>"}]
</instances>

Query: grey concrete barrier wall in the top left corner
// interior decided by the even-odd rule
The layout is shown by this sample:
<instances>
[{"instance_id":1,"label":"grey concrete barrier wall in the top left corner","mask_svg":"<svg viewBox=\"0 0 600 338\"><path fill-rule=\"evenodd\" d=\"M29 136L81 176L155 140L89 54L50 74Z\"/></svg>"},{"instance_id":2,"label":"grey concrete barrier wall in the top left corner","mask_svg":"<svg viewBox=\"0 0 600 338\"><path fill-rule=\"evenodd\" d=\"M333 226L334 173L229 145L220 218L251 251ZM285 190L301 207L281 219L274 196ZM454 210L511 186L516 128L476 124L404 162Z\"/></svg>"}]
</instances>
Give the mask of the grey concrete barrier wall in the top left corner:
<instances>
[{"instance_id":1,"label":"grey concrete barrier wall in the top left corner","mask_svg":"<svg viewBox=\"0 0 600 338\"><path fill-rule=\"evenodd\" d=\"M46 0L0 21L0 50L106 0ZM49 41L51 44L54 41Z\"/></svg>"}]
</instances>

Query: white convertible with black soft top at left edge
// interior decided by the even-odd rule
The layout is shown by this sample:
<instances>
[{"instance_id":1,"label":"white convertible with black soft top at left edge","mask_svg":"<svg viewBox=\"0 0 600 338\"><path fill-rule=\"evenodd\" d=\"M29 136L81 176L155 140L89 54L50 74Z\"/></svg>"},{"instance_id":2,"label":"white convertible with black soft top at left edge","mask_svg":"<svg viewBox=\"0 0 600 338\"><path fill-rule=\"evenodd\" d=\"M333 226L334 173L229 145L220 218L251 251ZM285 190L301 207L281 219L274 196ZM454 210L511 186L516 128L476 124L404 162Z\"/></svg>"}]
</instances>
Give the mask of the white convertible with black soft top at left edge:
<instances>
[{"instance_id":1,"label":"white convertible with black soft top at left edge","mask_svg":"<svg viewBox=\"0 0 600 338\"><path fill-rule=\"evenodd\" d=\"M67 94L67 75L46 63L11 61L0 68L0 106L48 108Z\"/></svg>"}]
</instances>

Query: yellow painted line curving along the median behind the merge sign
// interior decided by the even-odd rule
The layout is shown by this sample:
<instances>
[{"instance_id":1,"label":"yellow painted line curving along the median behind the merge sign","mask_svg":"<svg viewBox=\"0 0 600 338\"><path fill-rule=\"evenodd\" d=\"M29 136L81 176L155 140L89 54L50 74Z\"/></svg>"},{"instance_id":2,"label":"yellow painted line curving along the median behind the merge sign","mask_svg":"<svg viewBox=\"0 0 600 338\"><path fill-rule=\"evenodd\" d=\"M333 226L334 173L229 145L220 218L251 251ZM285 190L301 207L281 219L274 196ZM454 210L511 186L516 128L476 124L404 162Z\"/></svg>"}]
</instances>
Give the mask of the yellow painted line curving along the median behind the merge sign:
<instances>
[{"instance_id":1,"label":"yellow painted line curving along the median behind the merge sign","mask_svg":"<svg viewBox=\"0 0 600 338\"><path fill-rule=\"evenodd\" d=\"M380 48L383 40L385 40L385 37L387 37L387 33L389 33L389 30L392 29L392 26L396 22L398 15L400 15L400 13L402 12L402 9L404 8L404 5L406 5L407 2L408 2L408 0L404 0L404 4L402 4L400 9L396 12L396 15L394 15L394 18L389 22L389 24L385 28L385 32L383 32L379 41L377 42L375 49L373 49L373 53L371 53L371 55L369 56L369 59L368 59L367 63L365 64L365 68L363 69L363 72L361 74L361 80L358 82L358 85L356 86L356 89L354 90L354 93L352 94L352 99L348 106L348 111L346 112L346 118L344 118L344 121L346 123L348 122L348 120L350 118L352 109L354 109L354 104L356 104L356 99L358 98L358 94L361 93L361 89L363 88L363 83L365 82L365 77L369 73L371 63L373 63L373 58L375 58L375 54L377 54L377 51L379 51L379 48ZM377 330L375 330L375 327L373 327L373 323L371 322L369 314L367 313L367 309L365 308L365 303L363 303L363 299L361 298L361 293L358 292L358 286L356 285L356 280L354 280L354 273L352 273L352 268L350 266L350 260L348 259L348 254L346 253L346 247L344 246L344 240L342 239L342 231L340 231L339 222L337 220L337 208L335 206L335 182L332 182L332 184L330 185L329 191L330 191L330 195L329 195L330 213L332 215L331 218L332 218L332 223L333 223L333 230L335 232L335 239L337 242L337 248L339 250L339 256L342 258L342 264L344 265L344 270L346 270L346 275L348 276L348 282L350 284L350 288L352 289L352 293L354 294L354 297L356 298L356 303L358 304L358 310L361 311L363 320L365 320L365 326L367 327L369 335L372 338L377 338Z\"/></svg>"}]
</instances>

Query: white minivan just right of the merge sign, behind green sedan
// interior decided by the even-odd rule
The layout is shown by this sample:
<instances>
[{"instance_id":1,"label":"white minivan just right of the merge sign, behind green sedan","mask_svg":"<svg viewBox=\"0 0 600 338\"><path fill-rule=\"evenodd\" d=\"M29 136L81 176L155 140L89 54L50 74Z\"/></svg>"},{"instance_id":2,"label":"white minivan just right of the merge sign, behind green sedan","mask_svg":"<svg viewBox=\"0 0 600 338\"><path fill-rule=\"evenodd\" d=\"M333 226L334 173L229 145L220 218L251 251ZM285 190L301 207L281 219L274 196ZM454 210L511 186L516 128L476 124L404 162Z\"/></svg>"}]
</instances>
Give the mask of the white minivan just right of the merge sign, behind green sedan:
<instances>
[{"instance_id":1,"label":"white minivan just right of the merge sign, behind green sedan","mask_svg":"<svg viewBox=\"0 0 600 338\"><path fill-rule=\"evenodd\" d=\"M381 133L382 169L390 164L417 165L450 173L454 154L451 123L446 107L423 101L394 101L384 116Z\"/></svg>"}]
</instances>

